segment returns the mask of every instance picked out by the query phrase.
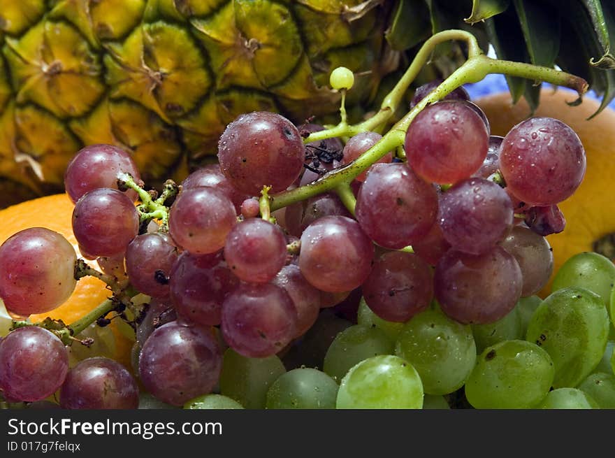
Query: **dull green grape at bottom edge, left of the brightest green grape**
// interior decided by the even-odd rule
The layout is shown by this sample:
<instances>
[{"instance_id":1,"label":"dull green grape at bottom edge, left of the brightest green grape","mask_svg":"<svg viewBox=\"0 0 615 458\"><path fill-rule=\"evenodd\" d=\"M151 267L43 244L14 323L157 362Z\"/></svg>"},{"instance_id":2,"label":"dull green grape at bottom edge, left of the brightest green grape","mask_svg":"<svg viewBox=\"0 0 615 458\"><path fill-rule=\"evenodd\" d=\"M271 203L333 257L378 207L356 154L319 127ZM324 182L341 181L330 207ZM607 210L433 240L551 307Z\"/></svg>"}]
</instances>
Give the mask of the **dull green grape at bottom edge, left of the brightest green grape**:
<instances>
[{"instance_id":1,"label":"dull green grape at bottom edge, left of the brightest green grape","mask_svg":"<svg viewBox=\"0 0 615 458\"><path fill-rule=\"evenodd\" d=\"M322 371L293 369L280 375L267 392L268 409L334 409L338 384Z\"/></svg>"}]
</instances>

